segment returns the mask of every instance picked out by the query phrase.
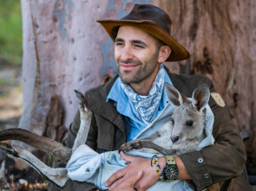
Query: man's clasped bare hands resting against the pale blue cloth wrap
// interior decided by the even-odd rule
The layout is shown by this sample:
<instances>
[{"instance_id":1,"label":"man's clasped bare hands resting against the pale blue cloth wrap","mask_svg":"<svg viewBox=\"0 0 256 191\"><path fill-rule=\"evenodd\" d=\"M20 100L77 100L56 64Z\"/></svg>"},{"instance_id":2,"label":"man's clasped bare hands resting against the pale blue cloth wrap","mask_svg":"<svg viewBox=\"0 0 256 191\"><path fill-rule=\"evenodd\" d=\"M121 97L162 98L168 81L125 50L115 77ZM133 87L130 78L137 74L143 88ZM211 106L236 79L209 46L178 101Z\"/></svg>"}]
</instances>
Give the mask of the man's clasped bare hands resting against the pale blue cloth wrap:
<instances>
[{"instance_id":1,"label":"man's clasped bare hands resting against the pale blue cloth wrap","mask_svg":"<svg viewBox=\"0 0 256 191\"><path fill-rule=\"evenodd\" d=\"M115 172L115 174L111 175L111 177L106 182L106 187L109 187L111 185L111 190L117 190L117 188L128 185L130 187L134 186L136 190L141 191L152 187L154 183L159 180L159 175L156 172L155 165L151 167L151 159L137 156L128 156L123 152L121 152L120 154L126 162L130 163L126 168L118 170L117 172ZM161 163L165 165L166 161L164 157L161 157L161 159L163 160L161 161ZM141 179L135 181L134 176L139 172L141 172L142 174Z\"/></svg>"}]
</instances>

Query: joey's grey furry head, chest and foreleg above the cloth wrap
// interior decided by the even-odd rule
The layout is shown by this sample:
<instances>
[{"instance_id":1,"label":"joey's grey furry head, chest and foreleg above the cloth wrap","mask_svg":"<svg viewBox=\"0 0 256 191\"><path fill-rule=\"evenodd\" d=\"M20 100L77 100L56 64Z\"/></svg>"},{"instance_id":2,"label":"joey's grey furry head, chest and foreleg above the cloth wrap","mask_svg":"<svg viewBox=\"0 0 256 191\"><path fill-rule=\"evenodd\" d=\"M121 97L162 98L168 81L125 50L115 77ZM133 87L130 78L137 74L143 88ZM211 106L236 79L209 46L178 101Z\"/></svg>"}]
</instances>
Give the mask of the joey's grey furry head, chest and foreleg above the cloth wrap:
<instances>
[{"instance_id":1,"label":"joey's grey furry head, chest and foreleg above the cloth wrap","mask_svg":"<svg viewBox=\"0 0 256 191\"><path fill-rule=\"evenodd\" d=\"M210 98L208 86L196 88L191 101L168 83L165 83L165 90L167 99L176 106L172 120L148 137L124 143L120 150L148 148L163 155L177 155L197 148L205 137L205 108Z\"/></svg>"}]
</instances>

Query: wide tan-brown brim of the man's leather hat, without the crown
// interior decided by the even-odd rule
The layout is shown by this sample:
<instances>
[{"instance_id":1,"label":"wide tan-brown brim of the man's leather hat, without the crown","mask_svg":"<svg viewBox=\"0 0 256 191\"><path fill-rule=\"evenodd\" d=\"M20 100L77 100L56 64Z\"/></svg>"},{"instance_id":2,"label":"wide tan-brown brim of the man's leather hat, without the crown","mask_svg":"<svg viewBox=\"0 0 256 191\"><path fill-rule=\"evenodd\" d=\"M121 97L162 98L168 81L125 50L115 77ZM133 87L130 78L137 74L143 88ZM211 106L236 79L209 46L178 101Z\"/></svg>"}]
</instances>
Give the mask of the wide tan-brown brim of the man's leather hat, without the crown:
<instances>
[{"instance_id":1,"label":"wide tan-brown brim of the man's leather hat, without the crown","mask_svg":"<svg viewBox=\"0 0 256 191\"><path fill-rule=\"evenodd\" d=\"M97 22L102 24L102 27L107 31L108 35L113 41L115 41L119 27L136 27L148 32L151 35L154 35L172 49L172 53L167 58L167 61L186 60L189 57L187 49L183 48L178 41L174 40L171 35L168 35L167 32L162 30L155 22L149 20L131 21L114 19L97 20Z\"/></svg>"}]
</instances>

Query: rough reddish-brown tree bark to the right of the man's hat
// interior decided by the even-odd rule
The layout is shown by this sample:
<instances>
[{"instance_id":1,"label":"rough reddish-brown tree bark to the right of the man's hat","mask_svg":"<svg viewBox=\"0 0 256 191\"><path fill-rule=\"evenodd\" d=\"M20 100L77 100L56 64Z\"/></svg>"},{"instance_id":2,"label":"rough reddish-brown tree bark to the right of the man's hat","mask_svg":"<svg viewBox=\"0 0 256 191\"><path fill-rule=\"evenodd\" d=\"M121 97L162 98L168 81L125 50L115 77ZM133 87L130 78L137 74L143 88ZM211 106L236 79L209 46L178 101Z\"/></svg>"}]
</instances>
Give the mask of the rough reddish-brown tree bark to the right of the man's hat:
<instances>
[{"instance_id":1,"label":"rough reddish-brown tree bark to the right of the man's hat","mask_svg":"<svg viewBox=\"0 0 256 191\"><path fill-rule=\"evenodd\" d=\"M171 16L172 35L185 46L190 62L167 64L175 72L204 73L230 107L256 160L256 2L253 0L162 0Z\"/></svg>"}]
</instances>

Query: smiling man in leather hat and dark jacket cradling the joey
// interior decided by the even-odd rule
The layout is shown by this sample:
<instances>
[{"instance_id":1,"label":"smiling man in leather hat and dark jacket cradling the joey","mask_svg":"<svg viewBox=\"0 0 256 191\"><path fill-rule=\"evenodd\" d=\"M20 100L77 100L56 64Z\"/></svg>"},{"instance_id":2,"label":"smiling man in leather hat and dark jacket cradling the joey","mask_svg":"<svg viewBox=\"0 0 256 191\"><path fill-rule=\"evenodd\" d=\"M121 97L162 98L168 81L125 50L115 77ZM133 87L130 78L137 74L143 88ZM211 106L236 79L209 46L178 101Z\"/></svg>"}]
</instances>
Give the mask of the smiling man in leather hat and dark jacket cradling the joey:
<instances>
[{"instance_id":1,"label":"smiling man in leather hat and dark jacket cradling the joey","mask_svg":"<svg viewBox=\"0 0 256 191\"><path fill-rule=\"evenodd\" d=\"M165 81L192 97L200 84L213 84L204 76L177 75L167 71L161 62L184 60L189 54L169 35L172 22L167 13L153 5L135 4L134 9L121 20L99 20L115 41L115 61L119 76L85 93L89 109L93 111L87 144L99 153L118 150L122 143L133 139L167 105L163 84ZM222 190L248 188L241 175L246 153L240 133L228 111L215 93L209 105L213 111L215 143L202 150L174 156L179 169L177 179L188 180L194 189ZM80 124L79 113L70 125L64 142L69 147L75 140ZM106 182L111 190L146 190L159 181L160 176L151 167L150 159L127 156L129 162ZM161 170L167 167L165 157L159 158ZM96 190L86 182L68 181L62 190Z\"/></svg>"}]
</instances>

